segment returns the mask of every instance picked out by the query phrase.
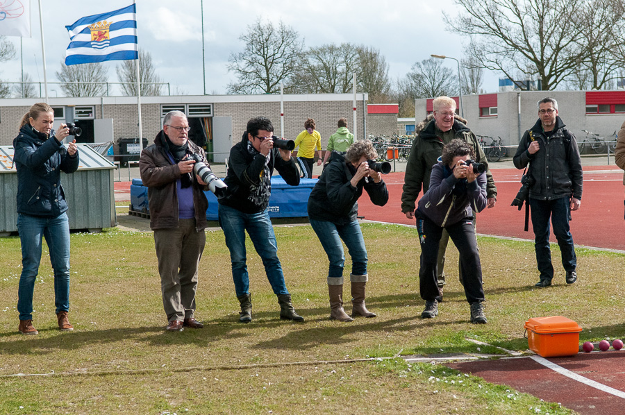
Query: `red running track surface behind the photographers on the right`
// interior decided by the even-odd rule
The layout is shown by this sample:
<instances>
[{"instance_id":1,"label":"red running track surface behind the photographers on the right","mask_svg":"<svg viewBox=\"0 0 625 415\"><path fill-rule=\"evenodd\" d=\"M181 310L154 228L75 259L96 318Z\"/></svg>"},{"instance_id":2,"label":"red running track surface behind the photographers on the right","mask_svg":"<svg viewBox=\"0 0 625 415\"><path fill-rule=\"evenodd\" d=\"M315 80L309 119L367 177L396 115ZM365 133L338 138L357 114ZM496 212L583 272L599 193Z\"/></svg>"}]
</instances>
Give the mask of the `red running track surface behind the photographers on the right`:
<instances>
[{"instance_id":1,"label":"red running track surface behind the photographers on the right","mask_svg":"<svg viewBox=\"0 0 625 415\"><path fill-rule=\"evenodd\" d=\"M497 205L478 213L477 231L483 235L497 235L533 239L531 220L528 232L524 232L525 207L519 212L510 206L521 187L522 171L517 169L493 169L497 185ZM367 197L358 201L358 214L366 220L415 225L414 220L401 213L401 188L403 173L384 176L389 201L379 207ZM584 189L580 210L572 212L571 232L577 245L595 246L625 251L623 171L613 166L584 167ZM556 239L551 235L551 241Z\"/></svg>"}]
</instances>

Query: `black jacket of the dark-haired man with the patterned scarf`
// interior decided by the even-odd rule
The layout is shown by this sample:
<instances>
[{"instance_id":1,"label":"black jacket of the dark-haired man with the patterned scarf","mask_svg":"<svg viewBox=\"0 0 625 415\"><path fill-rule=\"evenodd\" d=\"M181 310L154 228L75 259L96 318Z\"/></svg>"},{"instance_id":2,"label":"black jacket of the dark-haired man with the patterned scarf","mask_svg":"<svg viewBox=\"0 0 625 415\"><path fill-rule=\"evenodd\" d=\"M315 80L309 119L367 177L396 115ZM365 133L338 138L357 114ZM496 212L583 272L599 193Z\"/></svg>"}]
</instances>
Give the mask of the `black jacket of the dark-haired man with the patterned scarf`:
<instances>
[{"instance_id":1,"label":"black jacket of the dark-haired man with the patterned scarf","mask_svg":"<svg viewBox=\"0 0 625 415\"><path fill-rule=\"evenodd\" d=\"M248 151L247 133L244 133L240 142L230 150L228 158L228 173L224 183L228 185L228 194L219 199L219 203L233 207L244 213L263 212L269 205L269 196L272 193L271 176L274 169L291 186L299 185L299 170L292 157L284 161L278 149L272 149L269 158L269 177L265 177L265 163L267 158L257 151L254 154Z\"/></svg>"}]
</instances>

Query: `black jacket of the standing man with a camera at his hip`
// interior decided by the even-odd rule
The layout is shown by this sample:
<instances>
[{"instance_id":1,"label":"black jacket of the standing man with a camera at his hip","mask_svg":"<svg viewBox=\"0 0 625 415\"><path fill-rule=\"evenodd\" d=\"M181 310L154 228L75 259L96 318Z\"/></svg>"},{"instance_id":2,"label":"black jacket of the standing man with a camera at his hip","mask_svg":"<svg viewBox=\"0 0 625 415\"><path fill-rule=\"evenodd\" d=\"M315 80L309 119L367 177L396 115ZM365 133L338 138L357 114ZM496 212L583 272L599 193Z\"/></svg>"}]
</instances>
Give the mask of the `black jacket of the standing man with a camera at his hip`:
<instances>
[{"instance_id":1,"label":"black jacket of the standing man with a camera at his hip","mask_svg":"<svg viewBox=\"0 0 625 415\"><path fill-rule=\"evenodd\" d=\"M530 154L531 136L540 143L540 150ZM556 117L554 133L547 139L540 119L525 132L514 158L515 167L524 169L536 179L529 197L543 201L573 196L581 200L583 172L575 136L566 131L560 117Z\"/></svg>"}]
</instances>

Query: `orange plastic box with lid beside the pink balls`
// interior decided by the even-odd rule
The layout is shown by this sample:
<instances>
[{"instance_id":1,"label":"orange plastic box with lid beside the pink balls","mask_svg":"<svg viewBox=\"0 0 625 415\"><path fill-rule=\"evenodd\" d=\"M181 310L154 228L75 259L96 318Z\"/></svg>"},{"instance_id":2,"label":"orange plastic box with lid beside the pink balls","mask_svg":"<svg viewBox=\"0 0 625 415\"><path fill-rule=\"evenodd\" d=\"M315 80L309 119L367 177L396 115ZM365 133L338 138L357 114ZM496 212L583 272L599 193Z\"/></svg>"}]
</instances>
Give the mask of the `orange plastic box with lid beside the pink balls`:
<instances>
[{"instance_id":1,"label":"orange plastic box with lid beside the pink balls","mask_svg":"<svg viewBox=\"0 0 625 415\"><path fill-rule=\"evenodd\" d=\"M525 322L527 343L542 357L572 356L579 351L582 328L562 316L536 317Z\"/></svg>"}]
</instances>

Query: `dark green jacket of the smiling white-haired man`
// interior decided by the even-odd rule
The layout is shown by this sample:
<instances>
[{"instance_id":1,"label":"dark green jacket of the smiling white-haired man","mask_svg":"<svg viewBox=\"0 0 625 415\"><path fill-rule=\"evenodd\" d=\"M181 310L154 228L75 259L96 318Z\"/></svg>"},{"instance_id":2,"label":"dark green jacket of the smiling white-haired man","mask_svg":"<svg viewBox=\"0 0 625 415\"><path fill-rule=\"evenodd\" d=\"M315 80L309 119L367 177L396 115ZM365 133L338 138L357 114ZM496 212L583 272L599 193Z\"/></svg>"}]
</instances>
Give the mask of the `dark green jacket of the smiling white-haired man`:
<instances>
[{"instance_id":1,"label":"dark green jacket of the smiling white-haired man","mask_svg":"<svg viewBox=\"0 0 625 415\"><path fill-rule=\"evenodd\" d=\"M454 138L463 139L473 147L476 161L486 166L486 197L497 198L497 187L495 187L492 174L488 168L486 155L474 133L462 121L465 120L459 119L459 117L453 121L451 129L455 133ZM403 179L403 193L401 194L401 212L403 213L413 212L419 192L422 189L424 193L428 191L432 167L438 162L442 155L442 148L447 144L447 142L443 142L441 137L437 136L434 119L428 121L422 128L412 142L408 164L406 164L406 175Z\"/></svg>"}]
</instances>

